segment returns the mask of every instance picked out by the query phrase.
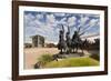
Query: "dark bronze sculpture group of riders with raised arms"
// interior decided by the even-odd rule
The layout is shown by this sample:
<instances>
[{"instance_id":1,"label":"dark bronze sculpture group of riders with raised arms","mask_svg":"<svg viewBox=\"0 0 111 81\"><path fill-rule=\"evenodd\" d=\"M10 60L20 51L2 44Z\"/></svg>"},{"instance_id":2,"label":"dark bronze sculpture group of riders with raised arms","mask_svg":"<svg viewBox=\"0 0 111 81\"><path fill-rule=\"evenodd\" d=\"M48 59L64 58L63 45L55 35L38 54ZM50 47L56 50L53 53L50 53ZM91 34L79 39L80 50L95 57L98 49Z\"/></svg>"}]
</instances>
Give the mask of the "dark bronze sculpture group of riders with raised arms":
<instances>
[{"instance_id":1,"label":"dark bronze sculpture group of riders with raised arms","mask_svg":"<svg viewBox=\"0 0 111 81\"><path fill-rule=\"evenodd\" d=\"M81 33L82 34L82 33ZM60 50L60 54L65 53L74 53L78 52L78 49L80 49L83 53L83 48L87 44L87 40L82 41L78 31L74 31L72 38L70 38L70 28L68 27L68 32L65 33L65 40L64 40L64 28L62 26L62 29L59 31L59 43L58 49Z\"/></svg>"}]
</instances>

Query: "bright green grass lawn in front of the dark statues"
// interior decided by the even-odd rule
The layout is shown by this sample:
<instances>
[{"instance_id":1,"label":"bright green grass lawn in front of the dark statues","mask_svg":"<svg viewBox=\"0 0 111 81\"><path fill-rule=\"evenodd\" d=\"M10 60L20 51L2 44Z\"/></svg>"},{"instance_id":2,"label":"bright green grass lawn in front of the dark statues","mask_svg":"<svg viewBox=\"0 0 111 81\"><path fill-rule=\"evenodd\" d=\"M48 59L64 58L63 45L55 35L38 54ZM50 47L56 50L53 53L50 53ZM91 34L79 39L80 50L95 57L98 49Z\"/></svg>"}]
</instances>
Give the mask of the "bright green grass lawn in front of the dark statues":
<instances>
[{"instance_id":1,"label":"bright green grass lawn in front of the dark statues","mask_svg":"<svg viewBox=\"0 0 111 81\"><path fill-rule=\"evenodd\" d=\"M48 62L44 68L65 68L65 67L94 67L99 61L92 58L68 58L59 61Z\"/></svg>"}]
</instances>

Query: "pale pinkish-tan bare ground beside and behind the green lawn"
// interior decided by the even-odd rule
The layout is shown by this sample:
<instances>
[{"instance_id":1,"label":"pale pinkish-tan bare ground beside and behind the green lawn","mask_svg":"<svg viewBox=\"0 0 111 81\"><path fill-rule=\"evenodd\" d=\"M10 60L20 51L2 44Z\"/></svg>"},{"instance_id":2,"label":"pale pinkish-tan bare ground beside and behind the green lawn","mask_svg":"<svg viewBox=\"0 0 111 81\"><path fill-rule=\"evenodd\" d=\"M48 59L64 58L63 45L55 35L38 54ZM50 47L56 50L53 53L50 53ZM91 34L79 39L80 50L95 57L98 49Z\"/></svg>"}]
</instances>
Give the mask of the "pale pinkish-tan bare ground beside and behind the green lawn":
<instances>
[{"instance_id":1,"label":"pale pinkish-tan bare ground beside and behind the green lawn","mask_svg":"<svg viewBox=\"0 0 111 81\"><path fill-rule=\"evenodd\" d=\"M79 50L80 51L80 50ZM24 49L24 69L33 69L33 64L38 61L38 58L42 54L56 54L60 52L58 48L30 48ZM90 53L98 53L99 51L84 51L85 55L89 57Z\"/></svg>"}]
</instances>

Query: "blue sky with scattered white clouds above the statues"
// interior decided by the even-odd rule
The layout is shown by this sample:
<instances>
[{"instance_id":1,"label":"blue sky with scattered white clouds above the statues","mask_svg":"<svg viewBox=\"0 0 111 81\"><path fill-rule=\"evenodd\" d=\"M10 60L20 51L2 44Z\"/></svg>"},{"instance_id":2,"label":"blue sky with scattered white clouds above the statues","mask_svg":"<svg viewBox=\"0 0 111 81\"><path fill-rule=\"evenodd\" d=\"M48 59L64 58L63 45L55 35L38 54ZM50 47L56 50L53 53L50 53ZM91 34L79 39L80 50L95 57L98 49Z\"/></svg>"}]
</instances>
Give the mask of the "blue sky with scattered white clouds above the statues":
<instances>
[{"instance_id":1,"label":"blue sky with scattered white clouds above the statues","mask_svg":"<svg viewBox=\"0 0 111 81\"><path fill-rule=\"evenodd\" d=\"M81 32L85 30L83 36L100 32L99 14L24 11L24 42L31 42L30 37L36 34L43 36L47 42L58 42L61 24L65 32L69 26L70 37L79 27Z\"/></svg>"}]
</instances>

